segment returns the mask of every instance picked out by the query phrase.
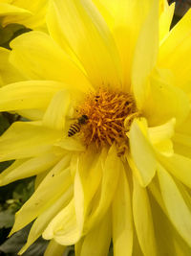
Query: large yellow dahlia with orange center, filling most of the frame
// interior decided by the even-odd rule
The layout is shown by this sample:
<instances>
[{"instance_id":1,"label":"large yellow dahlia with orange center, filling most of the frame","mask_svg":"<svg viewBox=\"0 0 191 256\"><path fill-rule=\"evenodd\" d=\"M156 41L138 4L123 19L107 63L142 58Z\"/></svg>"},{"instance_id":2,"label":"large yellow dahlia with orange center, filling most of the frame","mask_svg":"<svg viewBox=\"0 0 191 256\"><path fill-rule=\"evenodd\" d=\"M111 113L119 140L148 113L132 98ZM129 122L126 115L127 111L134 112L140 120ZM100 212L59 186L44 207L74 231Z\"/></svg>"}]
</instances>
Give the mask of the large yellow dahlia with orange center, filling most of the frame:
<instances>
[{"instance_id":1,"label":"large yellow dahlia with orange center, filling most of the frame","mask_svg":"<svg viewBox=\"0 0 191 256\"><path fill-rule=\"evenodd\" d=\"M35 220L47 255L191 254L191 12L169 32L165 1L54 0L50 35L11 42L28 81L0 89L16 122L1 185L36 175L11 234ZM61 245L59 245L61 244ZM62 247L63 246L63 247Z\"/></svg>"}]
</instances>

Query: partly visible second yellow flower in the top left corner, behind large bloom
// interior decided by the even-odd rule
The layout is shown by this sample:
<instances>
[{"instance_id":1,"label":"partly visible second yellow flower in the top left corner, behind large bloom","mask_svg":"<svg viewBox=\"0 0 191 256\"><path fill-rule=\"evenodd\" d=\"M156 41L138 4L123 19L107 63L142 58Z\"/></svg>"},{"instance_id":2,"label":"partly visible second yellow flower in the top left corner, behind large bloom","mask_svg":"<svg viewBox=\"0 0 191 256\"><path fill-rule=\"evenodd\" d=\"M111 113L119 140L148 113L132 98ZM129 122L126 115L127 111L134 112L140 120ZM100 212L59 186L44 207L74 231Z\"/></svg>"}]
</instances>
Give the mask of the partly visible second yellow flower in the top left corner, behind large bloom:
<instances>
[{"instance_id":1,"label":"partly visible second yellow flower in the top left corner, behind large bloom","mask_svg":"<svg viewBox=\"0 0 191 256\"><path fill-rule=\"evenodd\" d=\"M0 0L1 24L19 23L44 30L48 3L48 0Z\"/></svg>"}]
</instances>

